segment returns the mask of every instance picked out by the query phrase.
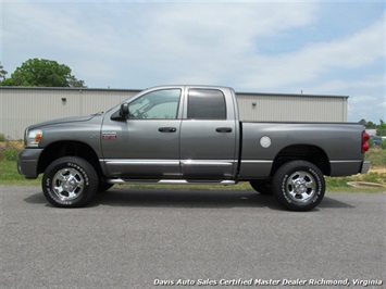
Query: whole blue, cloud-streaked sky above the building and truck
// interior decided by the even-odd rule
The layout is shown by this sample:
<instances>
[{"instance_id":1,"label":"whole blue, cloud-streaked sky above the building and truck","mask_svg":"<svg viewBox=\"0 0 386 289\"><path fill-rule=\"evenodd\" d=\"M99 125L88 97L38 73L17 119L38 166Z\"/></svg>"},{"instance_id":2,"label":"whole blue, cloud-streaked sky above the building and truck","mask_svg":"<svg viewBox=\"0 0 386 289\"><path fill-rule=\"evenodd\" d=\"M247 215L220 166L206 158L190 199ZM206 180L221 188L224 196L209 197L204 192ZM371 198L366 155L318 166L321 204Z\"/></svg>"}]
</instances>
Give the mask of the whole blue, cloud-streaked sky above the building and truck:
<instances>
[{"instance_id":1,"label":"whole blue, cloud-streaked sky above the building and truck","mask_svg":"<svg viewBox=\"0 0 386 289\"><path fill-rule=\"evenodd\" d=\"M1 20L10 74L49 59L90 88L302 90L386 120L384 1L2 1Z\"/></svg>"}]
</instances>

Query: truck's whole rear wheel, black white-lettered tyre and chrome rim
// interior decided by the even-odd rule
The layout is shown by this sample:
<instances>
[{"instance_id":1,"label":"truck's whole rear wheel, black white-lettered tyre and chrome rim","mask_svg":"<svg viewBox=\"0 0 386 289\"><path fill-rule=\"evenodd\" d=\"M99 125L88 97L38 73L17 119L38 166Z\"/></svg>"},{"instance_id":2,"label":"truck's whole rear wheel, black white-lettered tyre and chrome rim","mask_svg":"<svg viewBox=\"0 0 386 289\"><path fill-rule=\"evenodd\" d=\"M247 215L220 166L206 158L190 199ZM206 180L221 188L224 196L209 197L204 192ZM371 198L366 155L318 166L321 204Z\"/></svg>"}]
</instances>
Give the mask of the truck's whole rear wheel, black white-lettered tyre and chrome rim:
<instances>
[{"instance_id":1,"label":"truck's whole rear wheel, black white-lettered tyre and chrome rim","mask_svg":"<svg viewBox=\"0 0 386 289\"><path fill-rule=\"evenodd\" d=\"M272 180L277 201L290 211L310 211L323 199L325 181L322 172L307 161L282 165Z\"/></svg>"}]
</instances>

